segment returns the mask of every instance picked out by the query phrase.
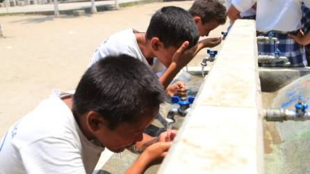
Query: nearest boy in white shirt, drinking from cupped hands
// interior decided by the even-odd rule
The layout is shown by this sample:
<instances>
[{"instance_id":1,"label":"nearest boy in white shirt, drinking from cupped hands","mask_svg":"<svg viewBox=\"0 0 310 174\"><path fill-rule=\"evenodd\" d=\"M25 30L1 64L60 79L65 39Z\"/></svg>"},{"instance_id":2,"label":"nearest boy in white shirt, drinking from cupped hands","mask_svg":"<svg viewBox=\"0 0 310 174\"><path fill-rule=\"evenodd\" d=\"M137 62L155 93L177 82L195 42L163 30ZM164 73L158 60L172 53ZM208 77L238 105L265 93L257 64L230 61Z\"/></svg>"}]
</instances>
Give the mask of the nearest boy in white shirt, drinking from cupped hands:
<instances>
[{"instance_id":1,"label":"nearest boy in white shirt, drinking from cupped hands","mask_svg":"<svg viewBox=\"0 0 310 174\"><path fill-rule=\"evenodd\" d=\"M155 142L127 171L143 173L170 147L166 133L143 134L164 100L163 86L137 58L100 60L74 94L55 91L8 130L0 141L0 173L92 173L104 148L122 152Z\"/></svg>"}]
</instances>

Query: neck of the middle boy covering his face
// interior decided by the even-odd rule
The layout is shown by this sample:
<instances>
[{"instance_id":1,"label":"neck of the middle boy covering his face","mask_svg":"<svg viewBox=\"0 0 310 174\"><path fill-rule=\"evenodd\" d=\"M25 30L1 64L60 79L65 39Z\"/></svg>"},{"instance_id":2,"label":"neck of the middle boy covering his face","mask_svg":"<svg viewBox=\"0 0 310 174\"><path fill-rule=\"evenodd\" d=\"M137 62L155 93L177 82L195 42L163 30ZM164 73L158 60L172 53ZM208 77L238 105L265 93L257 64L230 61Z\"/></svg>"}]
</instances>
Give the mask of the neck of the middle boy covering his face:
<instances>
[{"instance_id":1,"label":"neck of the middle boy covering his face","mask_svg":"<svg viewBox=\"0 0 310 174\"><path fill-rule=\"evenodd\" d=\"M138 47L148 62L152 62L155 55L152 53L151 43L147 40L145 33L134 33L138 42Z\"/></svg>"}]
</instances>

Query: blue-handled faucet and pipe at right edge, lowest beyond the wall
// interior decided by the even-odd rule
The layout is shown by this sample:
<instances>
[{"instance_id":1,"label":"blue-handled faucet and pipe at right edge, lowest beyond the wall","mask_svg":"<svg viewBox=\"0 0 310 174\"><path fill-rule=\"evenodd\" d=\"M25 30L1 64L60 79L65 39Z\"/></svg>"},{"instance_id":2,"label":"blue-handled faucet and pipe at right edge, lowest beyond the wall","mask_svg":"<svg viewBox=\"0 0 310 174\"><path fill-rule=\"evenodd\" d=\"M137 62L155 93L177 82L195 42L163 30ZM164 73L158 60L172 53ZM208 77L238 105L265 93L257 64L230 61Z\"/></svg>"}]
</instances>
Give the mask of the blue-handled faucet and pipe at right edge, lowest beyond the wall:
<instances>
[{"instance_id":1,"label":"blue-handled faucet and pipe at right edge, lowest beyond the wall","mask_svg":"<svg viewBox=\"0 0 310 174\"><path fill-rule=\"evenodd\" d=\"M283 122L284 120L304 121L310 120L310 113L306 111L308 104L302 102L301 97L295 104L295 111L288 109L267 109L265 110L265 119L267 121Z\"/></svg>"}]
</instances>

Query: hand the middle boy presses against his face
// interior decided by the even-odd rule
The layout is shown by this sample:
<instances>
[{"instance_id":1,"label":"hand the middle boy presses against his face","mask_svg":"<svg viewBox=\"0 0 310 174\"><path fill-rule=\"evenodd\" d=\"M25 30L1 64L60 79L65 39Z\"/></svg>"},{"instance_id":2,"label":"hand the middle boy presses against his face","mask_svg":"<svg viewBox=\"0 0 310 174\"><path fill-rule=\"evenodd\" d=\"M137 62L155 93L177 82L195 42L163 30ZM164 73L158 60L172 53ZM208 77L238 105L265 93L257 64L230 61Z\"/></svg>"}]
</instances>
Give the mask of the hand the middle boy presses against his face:
<instances>
[{"instance_id":1,"label":"hand the middle boy presses against his face","mask_svg":"<svg viewBox=\"0 0 310 174\"><path fill-rule=\"evenodd\" d=\"M172 56L172 63L175 63L178 68L183 68L186 66L195 56L195 51L197 49L197 45L186 50L188 48L189 42L185 41L179 47L177 52L175 52Z\"/></svg>"}]
</instances>

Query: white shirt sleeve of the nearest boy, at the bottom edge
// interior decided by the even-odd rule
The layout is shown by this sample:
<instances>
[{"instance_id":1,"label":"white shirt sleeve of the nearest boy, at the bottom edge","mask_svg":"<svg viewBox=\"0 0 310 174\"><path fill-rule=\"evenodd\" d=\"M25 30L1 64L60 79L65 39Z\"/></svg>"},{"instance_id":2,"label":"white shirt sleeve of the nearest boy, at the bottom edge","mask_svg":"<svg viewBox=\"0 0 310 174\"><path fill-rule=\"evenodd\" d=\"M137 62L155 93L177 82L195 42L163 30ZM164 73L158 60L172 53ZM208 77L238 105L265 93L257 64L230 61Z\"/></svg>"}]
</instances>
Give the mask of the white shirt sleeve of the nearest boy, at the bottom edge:
<instances>
[{"instance_id":1,"label":"white shirt sleeve of the nearest boy, at the bottom edge","mask_svg":"<svg viewBox=\"0 0 310 174\"><path fill-rule=\"evenodd\" d=\"M86 173L79 148L65 139L41 139L19 153L27 173Z\"/></svg>"}]
</instances>

